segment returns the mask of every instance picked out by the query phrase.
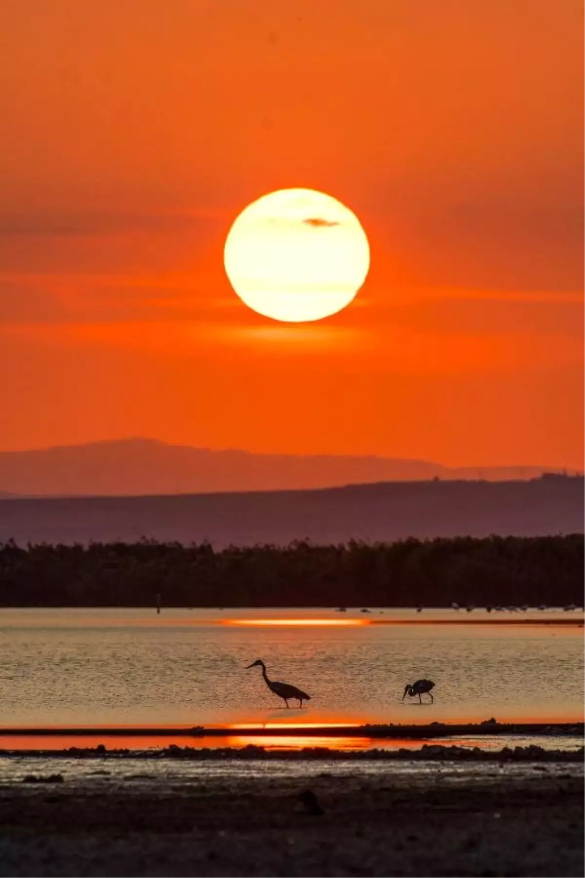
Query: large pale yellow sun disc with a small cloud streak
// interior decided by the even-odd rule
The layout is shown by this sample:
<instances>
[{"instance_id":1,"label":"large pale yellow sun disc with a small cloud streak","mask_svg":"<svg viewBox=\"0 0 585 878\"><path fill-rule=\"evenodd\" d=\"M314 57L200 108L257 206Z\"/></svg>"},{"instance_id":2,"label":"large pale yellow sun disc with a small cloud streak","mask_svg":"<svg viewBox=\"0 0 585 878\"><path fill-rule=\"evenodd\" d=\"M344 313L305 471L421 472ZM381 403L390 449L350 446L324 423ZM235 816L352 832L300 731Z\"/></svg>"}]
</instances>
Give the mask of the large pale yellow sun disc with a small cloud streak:
<instances>
[{"instance_id":1,"label":"large pale yellow sun disc with a small cloud streak","mask_svg":"<svg viewBox=\"0 0 585 878\"><path fill-rule=\"evenodd\" d=\"M312 189L258 198L225 240L225 272L239 298L289 323L341 311L366 280L369 263L360 220L337 198Z\"/></svg>"}]
</instances>

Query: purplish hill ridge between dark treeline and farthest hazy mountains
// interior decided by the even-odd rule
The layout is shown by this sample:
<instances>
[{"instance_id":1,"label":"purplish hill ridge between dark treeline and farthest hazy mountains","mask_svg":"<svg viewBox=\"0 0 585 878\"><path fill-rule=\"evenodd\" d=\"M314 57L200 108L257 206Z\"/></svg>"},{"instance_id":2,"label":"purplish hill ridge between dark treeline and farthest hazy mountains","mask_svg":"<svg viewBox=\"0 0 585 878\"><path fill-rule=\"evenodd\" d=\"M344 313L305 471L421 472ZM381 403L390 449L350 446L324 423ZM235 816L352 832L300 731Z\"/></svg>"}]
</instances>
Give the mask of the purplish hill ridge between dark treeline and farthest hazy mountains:
<instances>
[{"instance_id":1,"label":"purplish hill ridge between dark treeline and farthest hazy mountains","mask_svg":"<svg viewBox=\"0 0 585 878\"><path fill-rule=\"evenodd\" d=\"M153 497L0 500L0 542L132 543L214 547L409 536L546 536L585 533L585 478L426 481L317 491L208 493Z\"/></svg>"}]
</instances>

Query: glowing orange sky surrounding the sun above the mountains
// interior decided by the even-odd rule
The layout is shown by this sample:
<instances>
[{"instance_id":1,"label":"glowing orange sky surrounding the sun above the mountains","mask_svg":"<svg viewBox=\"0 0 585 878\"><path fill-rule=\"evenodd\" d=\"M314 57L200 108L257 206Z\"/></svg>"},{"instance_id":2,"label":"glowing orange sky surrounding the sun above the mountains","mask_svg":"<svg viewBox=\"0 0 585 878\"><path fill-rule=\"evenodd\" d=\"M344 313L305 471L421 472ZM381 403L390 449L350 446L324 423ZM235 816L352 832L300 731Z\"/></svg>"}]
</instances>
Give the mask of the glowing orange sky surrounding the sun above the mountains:
<instances>
[{"instance_id":1,"label":"glowing orange sky surrounding the sun above the mountains","mask_svg":"<svg viewBox=\"0 0 585 878\"><path fill-rule=\"evenodd\" d=\"M0 449L585 467L584 29L582 0L4 0ZM223 272L286 186L370 239L319 324Z\"/></svg>"}]
</instances>

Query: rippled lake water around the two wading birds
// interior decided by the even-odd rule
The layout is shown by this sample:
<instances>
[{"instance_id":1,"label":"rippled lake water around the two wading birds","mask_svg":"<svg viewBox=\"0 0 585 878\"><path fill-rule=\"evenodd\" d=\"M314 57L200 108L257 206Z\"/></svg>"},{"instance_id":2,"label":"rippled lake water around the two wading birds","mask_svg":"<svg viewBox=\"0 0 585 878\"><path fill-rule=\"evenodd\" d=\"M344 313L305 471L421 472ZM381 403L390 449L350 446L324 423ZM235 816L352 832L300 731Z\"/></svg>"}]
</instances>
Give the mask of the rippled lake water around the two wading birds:
<instances>
[{"instance_id":1,"label":"rippled lake water around the two wading birds","mask_svg":"<svg viewBox=\"0 0 585 878\"><path fill-rule=\"evenodd\" d=\"M561 611L2 609L0 725L583 720L582 625ZM309 704L285 709L246 670L258 658ZM434 705L402 702L421 677Z\"/></svg>"}]
</instances>

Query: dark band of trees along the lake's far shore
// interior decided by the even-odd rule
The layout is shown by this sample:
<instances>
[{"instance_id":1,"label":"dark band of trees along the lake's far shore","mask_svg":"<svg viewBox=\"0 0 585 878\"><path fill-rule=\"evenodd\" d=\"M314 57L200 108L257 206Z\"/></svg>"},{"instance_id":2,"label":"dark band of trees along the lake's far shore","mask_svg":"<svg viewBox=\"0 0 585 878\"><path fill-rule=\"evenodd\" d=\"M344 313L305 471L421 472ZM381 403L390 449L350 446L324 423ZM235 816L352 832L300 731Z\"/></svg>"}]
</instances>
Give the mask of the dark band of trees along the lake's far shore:
<instances>
[{"instance_id":1,"label":"dark band of trees along the lake's far shore","mask_svg":"<svg viewBox=\"0 0 585 878\"><path fill-rule=\"evenodd\" d=\"M585 535L398 543L0 543L4 607L582 605Z\"/></svg>"}]
</instances>

